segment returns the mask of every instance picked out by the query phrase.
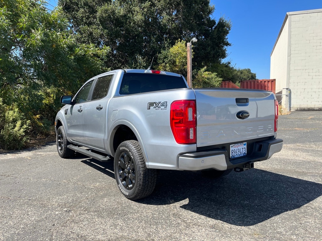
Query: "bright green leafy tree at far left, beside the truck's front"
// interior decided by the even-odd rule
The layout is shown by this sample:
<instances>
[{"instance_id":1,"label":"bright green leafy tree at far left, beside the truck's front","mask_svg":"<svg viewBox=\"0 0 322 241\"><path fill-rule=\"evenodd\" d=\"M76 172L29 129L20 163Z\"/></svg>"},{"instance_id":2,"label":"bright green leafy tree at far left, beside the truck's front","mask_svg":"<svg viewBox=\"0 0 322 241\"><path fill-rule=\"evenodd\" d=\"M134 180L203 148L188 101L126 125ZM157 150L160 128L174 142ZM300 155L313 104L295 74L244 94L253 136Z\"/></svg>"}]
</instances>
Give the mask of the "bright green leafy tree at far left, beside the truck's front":
<instances>
[{"instance_id":1,"label":"bright green leafy tree at far left, beside the truck's front","mask_svg":"<svg viewBox=\"0 0 322 241\"><path fill-rule=\"evenodd\" d=\"M49 12L43 0L0 1L0 96L24 113L33 132L53 123L60 95L107 70L109 47L79 44L71 33L61 8Z\"/></svg>"}]
</instances>

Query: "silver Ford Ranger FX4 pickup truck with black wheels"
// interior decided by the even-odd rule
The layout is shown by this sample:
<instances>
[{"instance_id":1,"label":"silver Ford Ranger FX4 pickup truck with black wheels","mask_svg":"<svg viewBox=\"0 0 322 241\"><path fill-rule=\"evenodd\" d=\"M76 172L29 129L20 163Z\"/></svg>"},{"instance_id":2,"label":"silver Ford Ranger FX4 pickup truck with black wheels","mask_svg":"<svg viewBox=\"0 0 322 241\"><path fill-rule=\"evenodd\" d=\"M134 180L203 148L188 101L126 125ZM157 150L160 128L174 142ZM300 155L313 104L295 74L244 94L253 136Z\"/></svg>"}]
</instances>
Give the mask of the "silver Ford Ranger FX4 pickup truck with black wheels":
<instances>
[{"instance_id":1,"label":"silver Ford Ranger FX4 pickup truck with black wheels","mask_svg":"<svg viewBox=\"0 0 322 241\"><path fill-rule=\"evenodd\" d=\"M118 188L131 200L153 192L156 169L219 177L251 169L283 145L273 93L188 88L183 76L169 72L110 71L61 103L58 154L114 160Z\"/></svg>"}]
</instances>

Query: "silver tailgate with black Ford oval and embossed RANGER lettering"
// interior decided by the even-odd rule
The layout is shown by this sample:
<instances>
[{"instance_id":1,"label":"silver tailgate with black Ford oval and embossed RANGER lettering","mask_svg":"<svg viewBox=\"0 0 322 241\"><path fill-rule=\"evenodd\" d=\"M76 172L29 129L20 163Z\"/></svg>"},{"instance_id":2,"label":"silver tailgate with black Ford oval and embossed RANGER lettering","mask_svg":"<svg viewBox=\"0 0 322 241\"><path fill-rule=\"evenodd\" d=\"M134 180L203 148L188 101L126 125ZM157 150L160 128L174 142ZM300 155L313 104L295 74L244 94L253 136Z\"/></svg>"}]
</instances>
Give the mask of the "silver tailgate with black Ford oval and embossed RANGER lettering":
<instances>
[{"instance_id":1,"label":"silver tailgate with black Ford oval and embossed RANGER lettering","mask_svg":"<svg viewBox=\"0 0 322 241\"><path fill-rule=\"evenodd\" d=\"M271 92L240 89L194 89L194 92L197 147L274 136L275 106Z\"/></svg>"}]
</instances>

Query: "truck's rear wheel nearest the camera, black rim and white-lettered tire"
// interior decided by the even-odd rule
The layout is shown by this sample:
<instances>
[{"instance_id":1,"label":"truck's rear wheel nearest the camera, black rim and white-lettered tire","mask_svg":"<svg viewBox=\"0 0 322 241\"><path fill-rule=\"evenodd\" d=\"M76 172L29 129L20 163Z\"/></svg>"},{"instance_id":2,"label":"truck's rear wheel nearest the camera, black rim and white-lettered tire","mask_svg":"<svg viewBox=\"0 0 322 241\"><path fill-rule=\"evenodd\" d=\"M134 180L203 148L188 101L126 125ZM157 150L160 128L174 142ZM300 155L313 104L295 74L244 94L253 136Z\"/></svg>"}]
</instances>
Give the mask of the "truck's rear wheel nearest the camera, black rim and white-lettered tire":
<instances>
[{"instance_id":1,"label":"truck's rear wheel nearest the camera, black rim and white-lettered tire","mask_svg":"<svg viewBox=\"0 0 322 241\"><path fill-rule=\"evenodd\" d=\"M118 146L114 173L119 190L130 200L145 198L156 187L156 170L147 168L140 144L135 140Z\"/></svg>"}]
</instances>

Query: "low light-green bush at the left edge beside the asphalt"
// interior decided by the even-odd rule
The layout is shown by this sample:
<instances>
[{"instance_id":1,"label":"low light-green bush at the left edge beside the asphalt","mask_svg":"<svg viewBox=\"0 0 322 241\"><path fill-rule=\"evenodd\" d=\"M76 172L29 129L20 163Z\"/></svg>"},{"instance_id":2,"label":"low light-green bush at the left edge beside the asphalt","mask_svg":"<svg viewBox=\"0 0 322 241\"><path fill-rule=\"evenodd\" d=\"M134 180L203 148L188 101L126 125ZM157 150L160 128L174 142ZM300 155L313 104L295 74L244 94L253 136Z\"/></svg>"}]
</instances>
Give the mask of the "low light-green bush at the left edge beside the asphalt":
<instances>
[{"instance_id":1,"label":"low light-green bush at the left edge beside the asphalt","mask_svg":"<svg viewBox=\"0 0 322 241\"><path fill-rule=\"evenodd\" d=\"M21 149L28 140L26 132L30 129L30 121L26 121L16 105L8 106L0 99L0 148Z\"/></svg>"}]
</instances>

